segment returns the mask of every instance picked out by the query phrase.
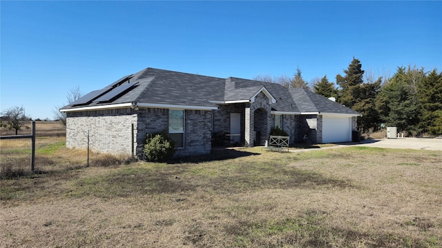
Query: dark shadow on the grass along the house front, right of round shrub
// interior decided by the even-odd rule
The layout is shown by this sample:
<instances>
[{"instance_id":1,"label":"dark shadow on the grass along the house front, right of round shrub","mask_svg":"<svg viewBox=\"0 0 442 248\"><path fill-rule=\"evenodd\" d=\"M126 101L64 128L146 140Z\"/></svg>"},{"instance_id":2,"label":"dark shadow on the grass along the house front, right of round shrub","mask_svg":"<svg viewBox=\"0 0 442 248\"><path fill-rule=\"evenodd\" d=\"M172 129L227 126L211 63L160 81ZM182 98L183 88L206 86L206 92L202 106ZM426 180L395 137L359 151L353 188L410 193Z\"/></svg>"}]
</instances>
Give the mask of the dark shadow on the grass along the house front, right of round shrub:
<instances>
[{"instance_id":1,"label":"dark shadow on the grass along the house front, right of round shrub","mask_svg":"<svg viewBox=\"0 0 442 248\"><path fill-rule=\"evenodd\" d=\"M167 161L168 164L180 164L180 163L202 163L211 161L224 161L233 158L241 158L245 156L259 155L254 152L244 152L237 149L223 149L217 148L212 149L211 154L200 155L200 156L187 156L184 158L173 158Z\"/></svg>"}]
</instances>

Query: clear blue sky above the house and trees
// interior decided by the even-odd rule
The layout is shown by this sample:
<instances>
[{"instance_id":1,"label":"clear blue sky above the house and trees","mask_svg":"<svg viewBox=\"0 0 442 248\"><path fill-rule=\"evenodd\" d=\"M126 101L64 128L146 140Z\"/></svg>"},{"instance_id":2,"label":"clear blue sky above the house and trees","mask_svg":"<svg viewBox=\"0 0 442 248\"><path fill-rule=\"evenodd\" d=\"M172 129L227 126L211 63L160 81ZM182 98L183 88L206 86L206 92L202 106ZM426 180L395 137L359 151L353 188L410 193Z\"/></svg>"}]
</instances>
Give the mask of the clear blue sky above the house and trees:
<instances>
[{"instance_id":1,"label":"clear blue sky above the house and trees","mask_svg":"<svg viewBox=\"0 0 442 248\"><path fill-rule=\"evenodd\" d=\"M441 1L0 1L0 108L53 118L70 89L160 68L335 81L363 70L442 71Z\"/></svg>"}]
</instances>

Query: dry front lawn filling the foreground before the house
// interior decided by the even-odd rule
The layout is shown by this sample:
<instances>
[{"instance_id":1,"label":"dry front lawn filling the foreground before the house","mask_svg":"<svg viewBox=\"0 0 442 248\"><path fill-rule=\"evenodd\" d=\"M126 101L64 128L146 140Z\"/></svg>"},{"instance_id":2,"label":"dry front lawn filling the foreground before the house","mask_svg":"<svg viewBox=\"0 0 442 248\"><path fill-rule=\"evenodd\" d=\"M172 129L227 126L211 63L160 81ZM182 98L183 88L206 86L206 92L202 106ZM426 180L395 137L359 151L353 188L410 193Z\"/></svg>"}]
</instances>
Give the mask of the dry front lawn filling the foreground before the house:
<instances>
[{"instance_id":1,"label":"dry front lawn filling the foreground before the house","mask_svg":"<svg viewBox=\"0 0 442 248\"><path fill-rule=\"evenodd\" d=\"M442 246L442 152L213 156L3 179L0 247Z\"/></svg>"}]
</instances>

